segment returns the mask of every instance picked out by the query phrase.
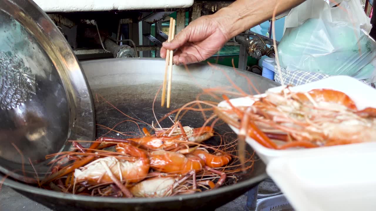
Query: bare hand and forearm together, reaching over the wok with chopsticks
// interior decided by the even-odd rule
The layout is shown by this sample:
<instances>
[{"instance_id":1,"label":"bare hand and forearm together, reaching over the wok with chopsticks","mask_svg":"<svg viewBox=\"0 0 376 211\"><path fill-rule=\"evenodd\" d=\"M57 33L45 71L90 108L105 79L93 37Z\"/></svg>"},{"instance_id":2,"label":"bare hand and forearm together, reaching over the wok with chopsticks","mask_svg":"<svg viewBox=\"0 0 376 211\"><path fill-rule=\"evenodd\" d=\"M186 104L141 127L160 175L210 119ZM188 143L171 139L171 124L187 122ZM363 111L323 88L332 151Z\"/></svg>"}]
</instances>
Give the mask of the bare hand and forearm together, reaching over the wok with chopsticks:
<instances>
[{"instance_id":1,"label":"bare hand and forearm together, reaching over the wok with chopsticks","mask_svg":"<svg viewBox=\"0 0 376 211\"><path fill-rule=\"evenodd\" d=\"M168 50L174 52L175 65L201 62L221 49L230 38L262 22L294 8L305 0L236 0L212 15L197 18L176 35L164 42L161 57ZM278 7L270 7L277 5Z\"/></svg>"}]
</instances>

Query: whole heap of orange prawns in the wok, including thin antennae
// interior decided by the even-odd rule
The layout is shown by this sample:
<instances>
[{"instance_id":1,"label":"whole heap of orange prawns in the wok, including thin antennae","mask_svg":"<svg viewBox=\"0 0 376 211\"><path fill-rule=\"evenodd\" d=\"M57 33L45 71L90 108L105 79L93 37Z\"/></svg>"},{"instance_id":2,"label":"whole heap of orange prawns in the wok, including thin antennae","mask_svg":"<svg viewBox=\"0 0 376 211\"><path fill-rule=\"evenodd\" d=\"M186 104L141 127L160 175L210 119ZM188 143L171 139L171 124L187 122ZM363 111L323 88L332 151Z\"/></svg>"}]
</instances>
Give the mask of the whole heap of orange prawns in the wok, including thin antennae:
<instances>
[{"instance_id":1,"label":"whole heap of orange prawns in the wok, including thin antennae","mask_svg":"<svg viewBox=\"0 0 376 211\"><path fill-rule=\"evenodd\" d=\"M206 126L212 118L209 121L204 118L203 127L199 128L182 127L180 121L171 118L173 126L162 128L164 118L156 119L159 128L155 128L153 123L127 117L132 120L124 120L112 128L99 125L109 131L88 148L80 144L88 141L76 140L69 151L47 155L46 159L52 158L52 171L42 181L37 178L38 186L89 196L164 197L236 183L238 172L252 171L254 152L247 153L249 165L241 167L235 155L236 137L233 133L214 132L214 121L210 127ZM115 130L123 122L135 123L144 136L134 137L135 131ZM139 122L152 130L141 131ZM132 138L105 137L110 132ZM215 139L202 143L214 134Z\"/></svg>"}]
</instances>

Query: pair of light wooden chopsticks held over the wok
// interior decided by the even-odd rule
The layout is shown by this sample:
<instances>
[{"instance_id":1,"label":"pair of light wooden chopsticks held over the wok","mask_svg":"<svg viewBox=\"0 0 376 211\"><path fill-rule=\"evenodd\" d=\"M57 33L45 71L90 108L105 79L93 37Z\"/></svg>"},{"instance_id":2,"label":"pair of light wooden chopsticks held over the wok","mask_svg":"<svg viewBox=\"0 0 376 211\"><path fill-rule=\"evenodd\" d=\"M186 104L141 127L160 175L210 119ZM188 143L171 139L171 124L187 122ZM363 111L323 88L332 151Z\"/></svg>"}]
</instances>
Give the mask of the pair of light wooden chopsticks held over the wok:
<instances>
[{"instance_id":1,"label":"pair of light wooden chopsticks held over the wok","mask_svg":"<svg viewBox=\"0 0 376 211\"><path fill-rule=\"evenodd\" d=\"M175 35L175 19L170 18L170 30L168 30L168 42L174 39ZM163 89L162 89L162 102L161 106L164 106L165 102L165 95L166 95L166 81L167 81L167 73L168 73L168 86L167 86L167 108L170 108L170 100L171 100L171 80L172 80L172 59L174 57L174 51L167 50L166 53L166 66L165 66L165 77L163 80ZM168 70L168 72L167 72Z\"/></svg>"}]
</instances>

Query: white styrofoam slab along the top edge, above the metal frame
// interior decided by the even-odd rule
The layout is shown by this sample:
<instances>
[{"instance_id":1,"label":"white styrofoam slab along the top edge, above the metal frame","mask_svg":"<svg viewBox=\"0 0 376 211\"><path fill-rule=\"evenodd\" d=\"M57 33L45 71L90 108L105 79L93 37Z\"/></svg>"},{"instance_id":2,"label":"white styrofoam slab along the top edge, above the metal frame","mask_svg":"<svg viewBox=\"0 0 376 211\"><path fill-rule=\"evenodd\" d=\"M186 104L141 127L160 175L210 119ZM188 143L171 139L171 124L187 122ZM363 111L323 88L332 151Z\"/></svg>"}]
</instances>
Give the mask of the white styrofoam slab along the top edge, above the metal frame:
<instances>
[{"instance_id":1,"label":"white styrofoam slab along the top edge, above the metal frame","mask_svg":"<svg viewBox=\"0 0 376 211\"><path fill-rule=\"evenodd\" d=\"M44 12L88 12L136 9L188 8L193 0L34 0Z\"/></svg>"}]
</instances>

